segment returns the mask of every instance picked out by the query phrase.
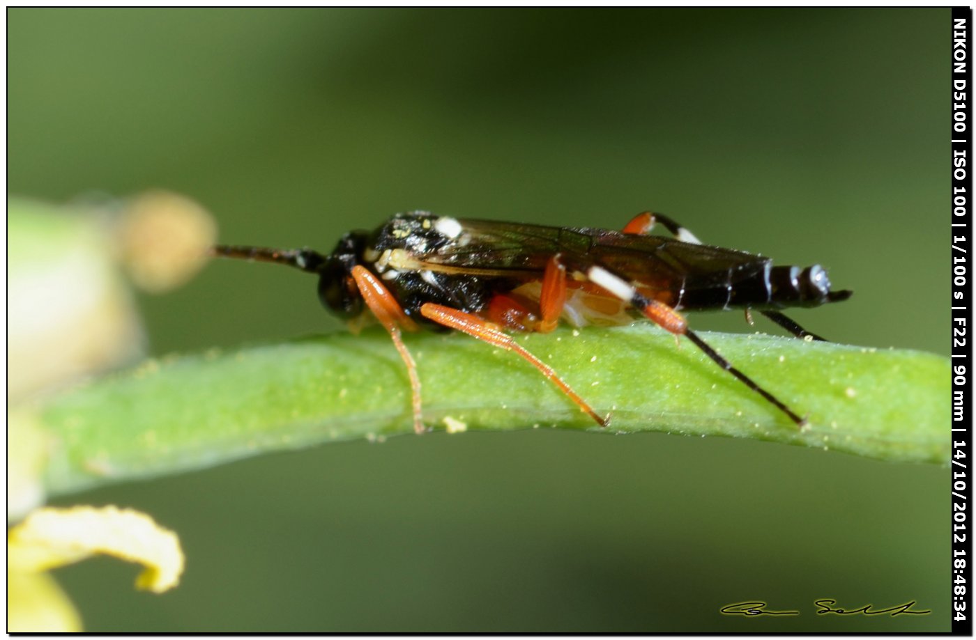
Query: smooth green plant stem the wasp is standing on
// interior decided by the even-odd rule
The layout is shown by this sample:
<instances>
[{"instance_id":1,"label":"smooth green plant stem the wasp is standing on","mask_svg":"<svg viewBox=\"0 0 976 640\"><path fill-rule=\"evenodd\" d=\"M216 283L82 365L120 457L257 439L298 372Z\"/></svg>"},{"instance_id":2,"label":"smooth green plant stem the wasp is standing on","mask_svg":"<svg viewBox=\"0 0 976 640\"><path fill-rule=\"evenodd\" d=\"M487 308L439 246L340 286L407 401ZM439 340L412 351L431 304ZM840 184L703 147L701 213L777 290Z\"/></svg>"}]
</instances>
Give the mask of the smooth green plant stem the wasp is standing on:
<instances>
[{"instance_id":1,"label":"smooth green plant stem the wasp is standing on","mask_svg":"<svg viewBox=\"0 0 976 640\"><path fill-rule=\"evenodd\" d=\"M771 440L877 460L947 463L949 363L758 335L703 334L797 413L802 429L686 340L637 324L520 336L599 412L601 429L516 356L460 335L407 336L427 425L667 431ZM259 453L412 433L410 389L381 330L153 360L50 398L49 493ZM451 420L448 420L451 421ZM431 437L431 436L416 436Z\"/></svg>"}]
</instances>

